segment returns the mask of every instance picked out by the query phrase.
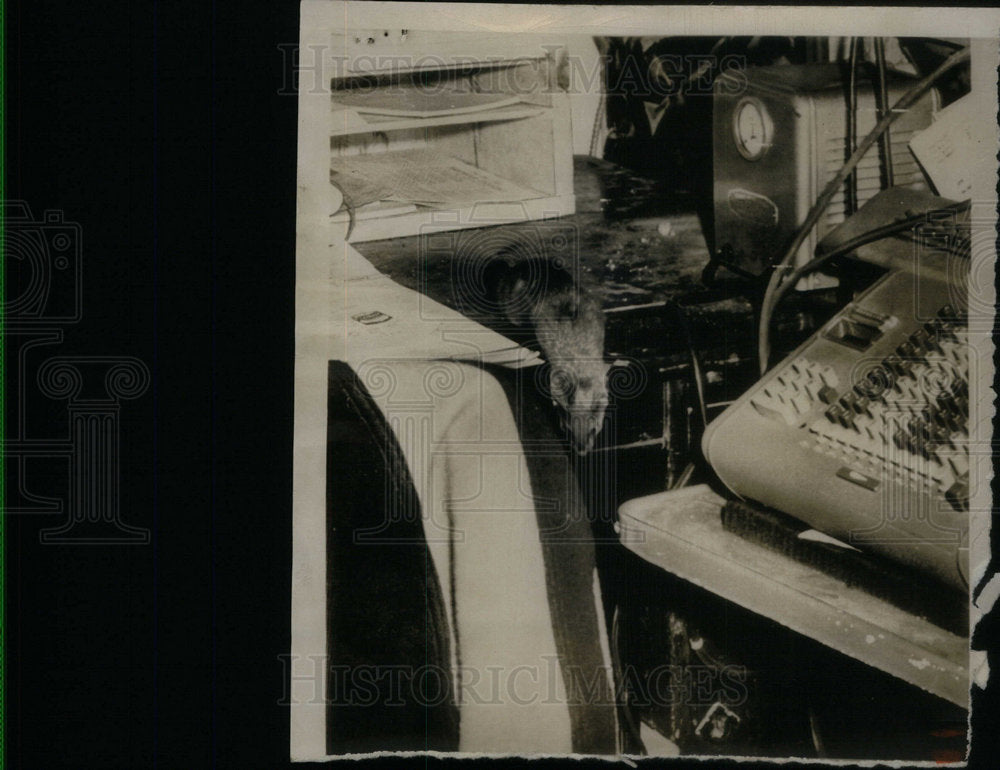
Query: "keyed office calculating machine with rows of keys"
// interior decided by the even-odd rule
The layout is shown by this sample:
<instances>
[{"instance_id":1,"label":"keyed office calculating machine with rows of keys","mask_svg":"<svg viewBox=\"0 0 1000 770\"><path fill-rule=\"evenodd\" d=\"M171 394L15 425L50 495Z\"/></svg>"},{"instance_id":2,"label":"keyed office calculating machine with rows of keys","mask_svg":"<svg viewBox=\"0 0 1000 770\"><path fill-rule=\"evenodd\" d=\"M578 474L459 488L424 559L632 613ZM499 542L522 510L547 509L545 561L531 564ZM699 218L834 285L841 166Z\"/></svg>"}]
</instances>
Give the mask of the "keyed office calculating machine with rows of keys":
<instances>
[{"instance_id":1,"label":"keyed office calculating machine with rows of keys","mask_svg":"<svg viewBox=\"0 0 1000 770\"><path fill-rule=\"evenodd\" d=\"M923 245L730 406L702 447L737 494L965 591L968 262ZM879 248L895 264L915 253L907 238Z\"/></svg>"}]
</instances>

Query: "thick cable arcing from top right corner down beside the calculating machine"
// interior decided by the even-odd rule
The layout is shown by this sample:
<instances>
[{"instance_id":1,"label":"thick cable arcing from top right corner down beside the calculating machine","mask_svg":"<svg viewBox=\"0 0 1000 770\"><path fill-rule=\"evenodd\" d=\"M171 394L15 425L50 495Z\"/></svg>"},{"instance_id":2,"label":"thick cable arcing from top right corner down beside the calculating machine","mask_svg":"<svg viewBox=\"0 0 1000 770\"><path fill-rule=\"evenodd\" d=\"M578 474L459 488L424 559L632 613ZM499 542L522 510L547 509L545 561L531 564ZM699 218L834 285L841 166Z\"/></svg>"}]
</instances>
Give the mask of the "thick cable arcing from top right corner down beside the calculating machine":
<instances>
[{"instance_id":1,"label":"thick cable arcing from top right corner down beside the calculating machine","mask_svg":"<svg viewBox=\"0 0 1000 770\"><path fill-rule=\"evenodd\" d=\"M816 222L819 221L820 216L830 205L830 201L833 200L833 196L840 189L841 185L844 184L844 180L847 178L847 175L854 170L854 168L861 161L861 158L868 152L869 149L871 149L872 145L885 132L885 130L900 116L905 114L905 111L916 103L916 101L923 96L932 85L934 85L938 78L945 73L950 72L955 67L966 64L969 59L970 52L968 47L955 52L945 59L944 62L937 67L937 69L927 75L927 77L917 82L912 88L910 88L910 90L903 94L899 101L893 105L889 113L879 120L879 122L875 125L875 128L873 128L861 141L858 148L854 151L854 154L848 158L847 162L841 166L840 171L838 171L827 183L823 192L809 210L809 213L802 222L802 225L795 238L792 240L791 245L788 247L788 250L785 252L781 261L775 266L774 271L771 273L767 289L764 292L757 335L757 355L760 364L761 376L767 372L768 358L771 353L770 326L771 315L774 311L774 295L777 292L779 285L782 283L782 276L785 275L785 272L790 268L795 259L795 255L799 251L799 248L805 242L809 233L812 232L812 229L816 225Z\"/></svg>"}]
</instances>

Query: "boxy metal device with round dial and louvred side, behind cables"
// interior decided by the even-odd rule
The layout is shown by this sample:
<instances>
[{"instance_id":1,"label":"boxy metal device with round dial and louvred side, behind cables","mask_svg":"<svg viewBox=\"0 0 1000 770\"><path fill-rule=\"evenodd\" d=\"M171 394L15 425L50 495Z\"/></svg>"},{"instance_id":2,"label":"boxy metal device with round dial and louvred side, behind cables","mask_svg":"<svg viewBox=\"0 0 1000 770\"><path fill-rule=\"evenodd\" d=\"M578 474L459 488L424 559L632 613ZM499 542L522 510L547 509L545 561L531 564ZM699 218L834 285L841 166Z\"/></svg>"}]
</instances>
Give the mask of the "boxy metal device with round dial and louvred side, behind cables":
<instances>
[{"instance_id":1,"label":"boxy metal device with round dial and louvred side, behind cables","mask_svg":"<svg viewBox=\"0 0 1000 770\"><path fill-rule=\"evenodd\" d=\"M889 102L916 78L894 73ZM763 272L787 247L810 205L834 177L852 148L848 139L847 76L837 64L751 67L722 73L715 82L713 165L715 251L727 261ZM915 133L931 122L937 97L931 91L892 126L892 165L898 187L924 188L923 173L909 150ZM857 136L878 118L871 85L859 71ZM879 147L862 158L854 176L857 206L882 189ZM808 261L819 240L845 217L849 184L831 202L803 243L796 266ZM834 281L814 274L800 288Z\"/></svg>"}]
</instances>

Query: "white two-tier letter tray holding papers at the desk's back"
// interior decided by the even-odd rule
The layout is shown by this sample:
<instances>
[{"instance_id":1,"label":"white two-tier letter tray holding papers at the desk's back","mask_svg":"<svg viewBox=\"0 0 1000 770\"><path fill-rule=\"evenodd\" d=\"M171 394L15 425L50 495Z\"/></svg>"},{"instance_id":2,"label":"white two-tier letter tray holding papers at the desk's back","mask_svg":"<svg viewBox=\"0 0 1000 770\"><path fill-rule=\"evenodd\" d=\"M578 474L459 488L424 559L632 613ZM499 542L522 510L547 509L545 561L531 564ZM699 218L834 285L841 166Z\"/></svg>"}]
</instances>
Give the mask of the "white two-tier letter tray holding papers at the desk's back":
<instances>
[{"instance_id":1,"label":"white two-tier letter tray holding papers at the desk's back","mask_svg":"<svg viewBox=\"0 0 1000 770\"><path fill-rule=\"evenodd\" d=\"M330 182L344 197L341 206L331 192L329 214L341 229L353 222L349 241L573 213L560 46L530 35L345 32L337 8L346 6L330 4L321 71ZM417 178L436 191L409 195ZM449 178L454 191L442 194Z\"/></svg>"}]
</instances>

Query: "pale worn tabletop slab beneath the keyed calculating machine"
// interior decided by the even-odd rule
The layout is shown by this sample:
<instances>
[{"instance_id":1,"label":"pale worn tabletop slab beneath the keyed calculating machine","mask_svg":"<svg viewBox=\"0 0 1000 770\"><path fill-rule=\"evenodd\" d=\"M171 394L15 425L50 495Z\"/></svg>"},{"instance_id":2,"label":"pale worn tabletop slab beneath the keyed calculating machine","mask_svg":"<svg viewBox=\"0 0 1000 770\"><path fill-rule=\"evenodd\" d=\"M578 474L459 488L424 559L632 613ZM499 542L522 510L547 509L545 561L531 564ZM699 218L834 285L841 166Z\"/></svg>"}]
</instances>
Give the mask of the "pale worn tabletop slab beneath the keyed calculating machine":
<instances>
[{"instance_id":1,"label":"pale worn tabletop slab beneath the keyed calculating machine","mask_svg":"<svg viewBox=\"0 0 1000 770\"><path fill-rule=\"evenodd\" d=\"M695 486L630 500L620 538L646 561L867 665L968 708L969 642L722 527Z\"/></svg>"}]
</instances>

